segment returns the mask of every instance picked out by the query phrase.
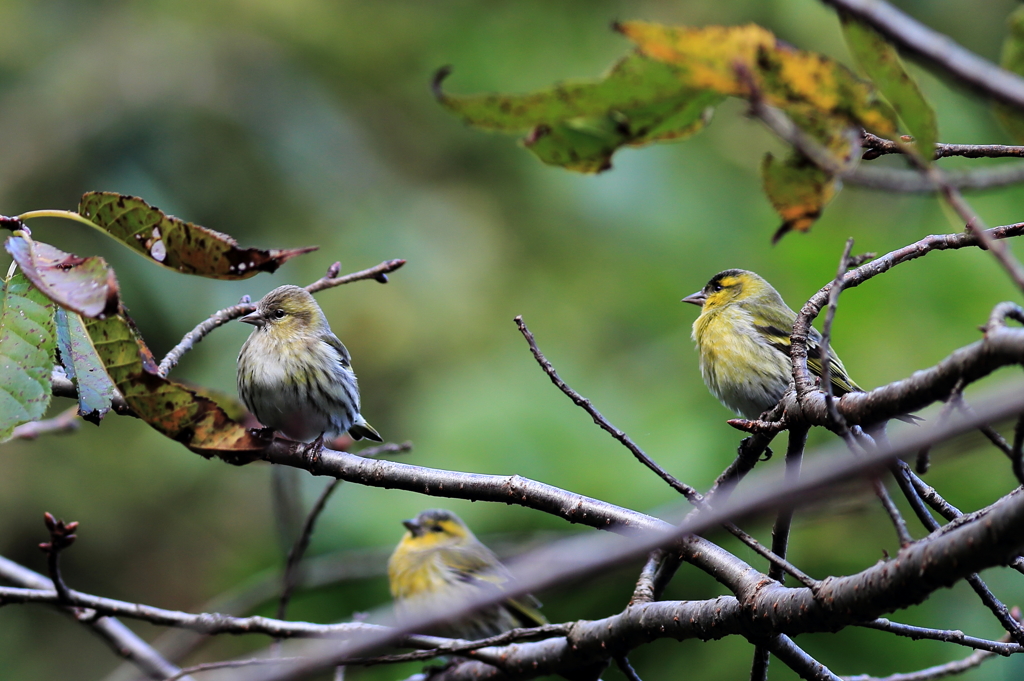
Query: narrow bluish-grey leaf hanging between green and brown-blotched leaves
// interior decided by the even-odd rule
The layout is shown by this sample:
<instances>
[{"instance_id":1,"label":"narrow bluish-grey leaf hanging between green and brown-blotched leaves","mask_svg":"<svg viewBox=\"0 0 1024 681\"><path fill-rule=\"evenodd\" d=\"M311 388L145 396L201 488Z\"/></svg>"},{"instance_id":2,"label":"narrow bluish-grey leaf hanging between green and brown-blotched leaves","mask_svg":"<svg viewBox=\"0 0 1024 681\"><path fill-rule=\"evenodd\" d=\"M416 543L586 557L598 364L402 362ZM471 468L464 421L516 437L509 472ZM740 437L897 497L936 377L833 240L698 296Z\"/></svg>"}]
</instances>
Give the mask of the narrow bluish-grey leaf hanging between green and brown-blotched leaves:
<instances>
[{"instance_id":1,"label":"narrow bluish-grey leaf hanging between green and brown-blotched leaves","mask_svg":"<svg viewBox=\"0 0 1024 681\"><path fill-rule=\"evenodd\" d=\"M57 308L56 330L60 364L78 390L78 414L99 425L118 389L106 375L81 316Z\"/></svg>"}]
</instances>

